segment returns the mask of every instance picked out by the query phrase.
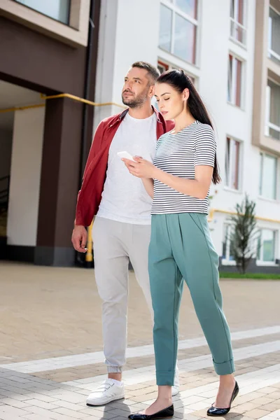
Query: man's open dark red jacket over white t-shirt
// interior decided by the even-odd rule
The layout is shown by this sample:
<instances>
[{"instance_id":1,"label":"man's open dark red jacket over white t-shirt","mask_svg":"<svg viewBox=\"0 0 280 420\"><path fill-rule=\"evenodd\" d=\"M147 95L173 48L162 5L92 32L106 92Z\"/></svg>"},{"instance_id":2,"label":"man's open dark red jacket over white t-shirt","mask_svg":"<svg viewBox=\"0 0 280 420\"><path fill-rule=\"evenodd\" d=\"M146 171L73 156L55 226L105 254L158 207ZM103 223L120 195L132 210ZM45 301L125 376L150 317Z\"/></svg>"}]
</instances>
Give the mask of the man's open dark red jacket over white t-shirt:
<instances>
[{"instance_id":1,"label":"man's open dark red jacket over white t-shirt","mask_svg":"<svg viewBox=\"0 0 280 420\"><path fill-rule=\"evenodd\" d=\"M162 134L172 130L174 122L165 121L161 113L156 109L154 111L157 116L157 139L159 139ZM127 112L128 109L125 109L116 116L105 118L97 127L85 165L83 183L78 193L76 225L89 226L97 214L106 179L111 141Z\"/></svg>"}]
</instances>

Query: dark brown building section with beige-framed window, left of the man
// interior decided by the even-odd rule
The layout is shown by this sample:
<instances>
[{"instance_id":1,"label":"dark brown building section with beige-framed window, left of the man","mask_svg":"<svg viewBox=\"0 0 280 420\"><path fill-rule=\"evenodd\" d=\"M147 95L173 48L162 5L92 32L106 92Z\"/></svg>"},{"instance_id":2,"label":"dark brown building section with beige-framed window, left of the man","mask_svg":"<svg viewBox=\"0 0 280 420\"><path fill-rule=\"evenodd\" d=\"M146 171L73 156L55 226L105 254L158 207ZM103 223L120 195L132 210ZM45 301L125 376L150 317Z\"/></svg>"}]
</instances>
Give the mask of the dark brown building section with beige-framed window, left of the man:
<instances>
[{"instance_id":1,"label":"dark brown building section with beige-framed window, left of the man","mask_svg":"<svg viewBox=\"0 0 280 420\"><path fill-rule=\"evenodd\" d=\"M99 8L99 0L0 1L2 259L75 260L71 230L93 124L92 106L79 99L94 99Z\"/></svg>"}]
</instances>

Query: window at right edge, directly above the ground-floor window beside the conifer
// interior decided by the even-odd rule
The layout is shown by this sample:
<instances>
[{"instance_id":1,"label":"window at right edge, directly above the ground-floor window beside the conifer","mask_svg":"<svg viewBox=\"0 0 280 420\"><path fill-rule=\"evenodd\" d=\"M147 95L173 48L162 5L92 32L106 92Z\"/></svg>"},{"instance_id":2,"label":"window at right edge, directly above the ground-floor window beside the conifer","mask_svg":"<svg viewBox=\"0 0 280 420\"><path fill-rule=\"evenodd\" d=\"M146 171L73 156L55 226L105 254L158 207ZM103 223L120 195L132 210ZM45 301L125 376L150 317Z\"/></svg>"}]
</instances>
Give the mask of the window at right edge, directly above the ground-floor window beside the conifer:
<instances>
[{"instance_id":1,"label":"window at right edge, directly above the ground-floor window beside the conifer","mask_svg":"<svg viewBox=\"0 0 280 420\"><path fill-rule=\"evenodd\" d=\"M260 195L276 200L277 158L260 153Z\"/></svg>"}]
</instances>

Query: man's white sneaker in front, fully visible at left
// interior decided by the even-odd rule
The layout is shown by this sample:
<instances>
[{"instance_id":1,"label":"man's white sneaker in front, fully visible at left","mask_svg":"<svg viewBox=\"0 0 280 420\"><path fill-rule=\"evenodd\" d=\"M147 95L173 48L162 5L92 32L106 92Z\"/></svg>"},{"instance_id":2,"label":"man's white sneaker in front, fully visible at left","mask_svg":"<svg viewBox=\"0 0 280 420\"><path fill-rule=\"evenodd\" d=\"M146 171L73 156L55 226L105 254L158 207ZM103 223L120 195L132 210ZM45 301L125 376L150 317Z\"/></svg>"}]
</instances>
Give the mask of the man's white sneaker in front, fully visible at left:
<instances>
[{"instance_id":1,"label":"man's white sneaker in front, fully visible at left","mask_svg":"<svg viewBox=\"0 0 280 420\"><path fill-rule=\"evenodd\" d=\"M105 405L108 402L125 398L123 382L116 384L114 379L106 379L95 391L87 397L87 405Z\"/></svg>"}]
</instances>

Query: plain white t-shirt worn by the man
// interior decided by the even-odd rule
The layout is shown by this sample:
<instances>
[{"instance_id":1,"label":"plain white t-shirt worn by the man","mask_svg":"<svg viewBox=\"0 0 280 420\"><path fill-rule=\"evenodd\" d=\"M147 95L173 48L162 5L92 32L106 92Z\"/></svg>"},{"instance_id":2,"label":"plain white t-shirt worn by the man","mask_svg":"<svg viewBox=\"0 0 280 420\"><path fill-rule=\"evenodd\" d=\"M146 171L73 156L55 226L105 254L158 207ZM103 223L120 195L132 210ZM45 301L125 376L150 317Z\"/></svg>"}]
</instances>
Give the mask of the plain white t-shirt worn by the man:
<instances>
[{"instance_id":1,"label":"plain white t-shirt worn by the man","mask_svg":"<svg viewBox=\"0 0 280 420\"><path fill-rule=\"evenodd\" d=\"M113 138L109 149L106 181L97 216L113 221L149 225L151 223L152 199L140 178L128 172L117 155L127 151L153 162L157 144L157 118L132 118L126 114Z\"/></svg>"}]
</instances>

